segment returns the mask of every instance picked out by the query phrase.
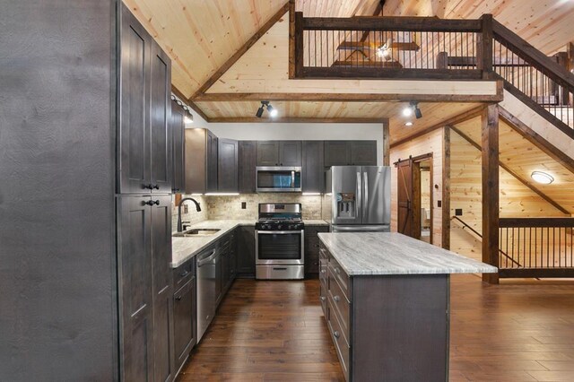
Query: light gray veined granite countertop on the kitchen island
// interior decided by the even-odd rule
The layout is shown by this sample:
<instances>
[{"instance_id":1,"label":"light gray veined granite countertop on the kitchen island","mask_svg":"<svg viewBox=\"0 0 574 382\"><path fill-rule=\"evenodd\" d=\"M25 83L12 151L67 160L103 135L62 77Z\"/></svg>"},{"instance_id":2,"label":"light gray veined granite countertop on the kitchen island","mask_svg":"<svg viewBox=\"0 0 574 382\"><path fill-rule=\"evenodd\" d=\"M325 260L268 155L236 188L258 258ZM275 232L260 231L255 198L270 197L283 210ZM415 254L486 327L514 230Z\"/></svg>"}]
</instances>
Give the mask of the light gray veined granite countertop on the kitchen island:
<instances>
[{"instance_id":1,"label":"light gray veined granite countertop on the kitchen island","mask_svg":"<svg viewBox=\"0 0 574 382\"><path fill-rule=\"evenodd\" d=\"M497 268L396 232L320 233L350 276L496 273Z\"/></svg>"}]
</instances>

